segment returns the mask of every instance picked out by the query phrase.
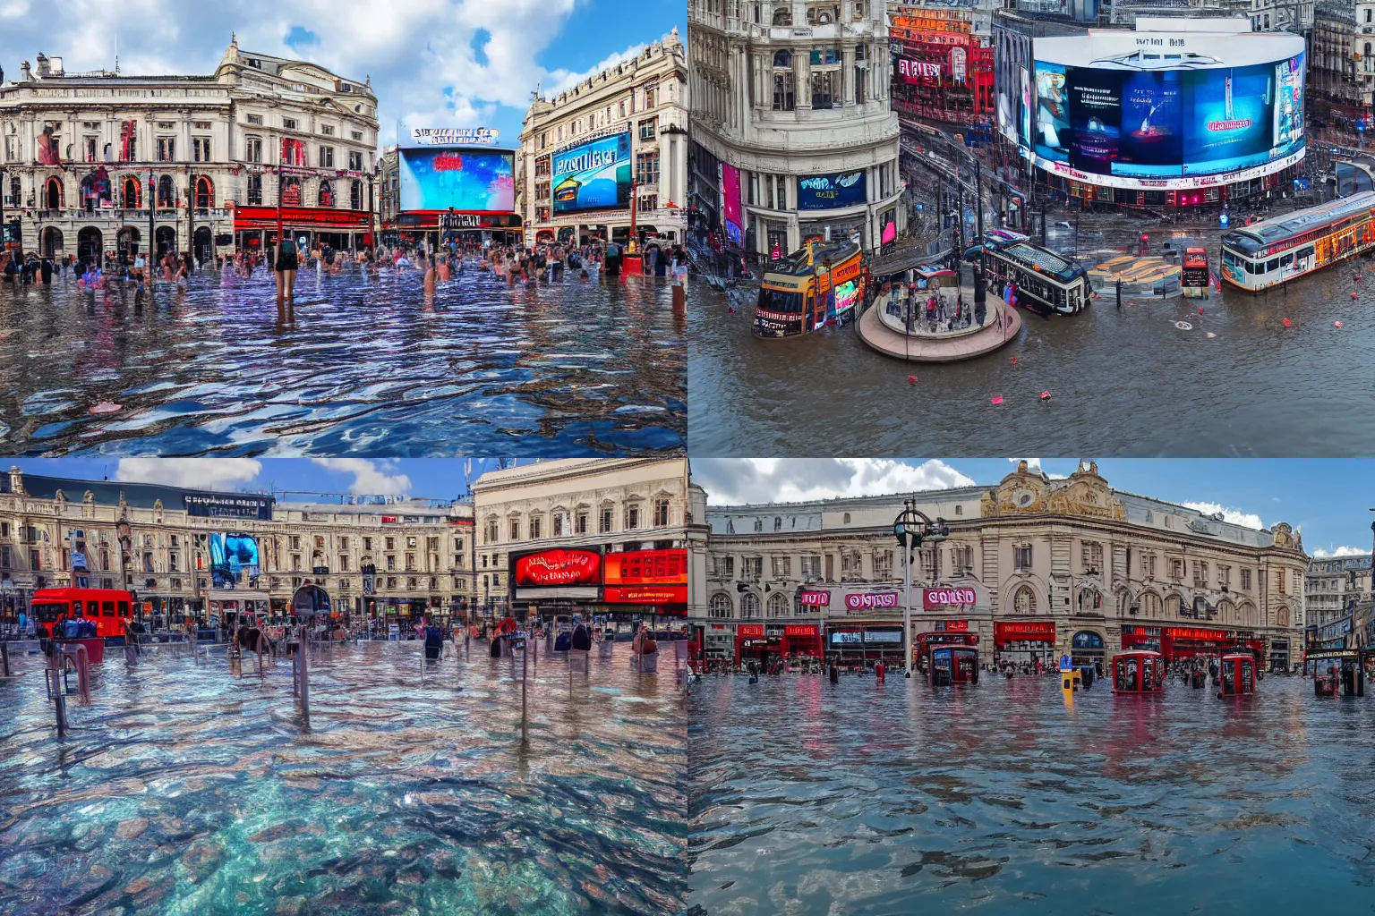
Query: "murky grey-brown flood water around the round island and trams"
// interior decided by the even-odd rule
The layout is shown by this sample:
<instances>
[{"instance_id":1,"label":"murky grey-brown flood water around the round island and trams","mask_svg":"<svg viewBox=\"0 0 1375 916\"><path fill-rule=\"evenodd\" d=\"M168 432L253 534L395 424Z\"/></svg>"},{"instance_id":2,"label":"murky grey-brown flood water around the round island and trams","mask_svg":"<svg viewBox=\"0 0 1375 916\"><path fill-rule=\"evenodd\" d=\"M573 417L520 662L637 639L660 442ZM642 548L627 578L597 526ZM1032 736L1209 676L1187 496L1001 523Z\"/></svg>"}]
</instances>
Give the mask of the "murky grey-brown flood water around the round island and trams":
<instances>
[{"instance_id":1,"label":"murky grey-brown flood water around the round island and trams","mask_svg":"<svg viewBox=\"0 0 1375 916\"><path fill-rule=\"evenodd\" d=\"M1165 235L1144 228L1158 253ZM1085 229L1078 250L1121 247L1134 232ZM1056 227L1046 243L1071 251L1072 235ZM1170 240L1202 243L1216 261L1218 239L1210 232ZM732 313L725 295L705 288L688 308L693 453L1332 457L1375 450L1375 262L1364 258L1262 295L1214 290L1203 302L1128 299L1121 310L1110 297L1075 316L1023 313L1018 339L952 364L879 354L854 325L755 339L752 302ZM1050 398L1040 400L1041 391ZM1002 404L993 405L994 397Z\"/></svg>"}]
</instances>

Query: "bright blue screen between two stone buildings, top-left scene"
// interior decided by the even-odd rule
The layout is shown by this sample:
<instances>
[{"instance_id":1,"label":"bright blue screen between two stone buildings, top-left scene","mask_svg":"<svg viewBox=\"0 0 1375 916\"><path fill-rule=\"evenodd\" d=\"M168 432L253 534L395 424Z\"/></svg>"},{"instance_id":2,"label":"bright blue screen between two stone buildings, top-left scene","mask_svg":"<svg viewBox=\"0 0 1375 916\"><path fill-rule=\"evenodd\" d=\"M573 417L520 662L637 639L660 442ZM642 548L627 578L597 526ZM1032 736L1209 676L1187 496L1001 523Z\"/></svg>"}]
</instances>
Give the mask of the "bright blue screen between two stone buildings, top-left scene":
<instances>
[{"instance_id":1,"label":"bright blue screen between two stone buildings, top-left scene","mask_svg":"<svg viewBox=\"0 0 1375 916\"><path fill-rule=\"evenodd\" d=\"M510 213L516 209L516 154L509 150L402 150L399 169L403 210Z\"/></svg>"}]
</instances>

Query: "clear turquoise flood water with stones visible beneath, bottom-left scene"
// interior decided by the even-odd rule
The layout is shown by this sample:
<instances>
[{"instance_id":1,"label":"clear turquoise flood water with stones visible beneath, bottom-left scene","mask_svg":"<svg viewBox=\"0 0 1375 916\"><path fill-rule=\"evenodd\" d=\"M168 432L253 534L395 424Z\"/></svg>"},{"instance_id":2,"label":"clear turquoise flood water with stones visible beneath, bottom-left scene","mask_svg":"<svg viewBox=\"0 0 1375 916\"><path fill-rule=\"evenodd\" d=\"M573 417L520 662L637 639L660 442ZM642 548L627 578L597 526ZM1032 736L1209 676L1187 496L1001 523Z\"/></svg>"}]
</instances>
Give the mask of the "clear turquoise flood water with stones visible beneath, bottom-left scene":
<instances>
[{"instance_id":1,"label":"clear turquoise flood water with stones visible beneath, bottom-left scene","mask_svg":"<svg viewBox=\"0 0 1375 916\"><path fill-rule=\"evenodd\" d=\"M0 681L0 913L679 912L672 669L617 645L569 696L540 652L522 737L518 658L474 643L422 677L419 645L314 659L308 731L286 661L111 651L65 742L41 673Z\"/></svg>"}]
</instances>

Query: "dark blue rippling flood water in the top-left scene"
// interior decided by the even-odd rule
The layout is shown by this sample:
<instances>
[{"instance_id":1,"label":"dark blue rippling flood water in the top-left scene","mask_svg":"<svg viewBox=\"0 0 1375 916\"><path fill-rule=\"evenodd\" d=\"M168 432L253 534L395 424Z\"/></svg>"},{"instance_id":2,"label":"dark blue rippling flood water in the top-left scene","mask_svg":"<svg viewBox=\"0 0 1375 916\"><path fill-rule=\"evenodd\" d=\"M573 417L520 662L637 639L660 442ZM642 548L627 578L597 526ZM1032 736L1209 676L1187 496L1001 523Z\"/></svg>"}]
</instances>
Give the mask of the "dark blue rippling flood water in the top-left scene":
<instances>
[{"instance_id":1,"label":"dark blue rippling flood water in the top-left scene","mask_svg":"<svg viewBox=\"0 0 1375 916\"><path fill-rule=\"evenodd\" d=\"M0 287L10 455L626 455L681 450L686 316L664 280L507 286L469 268L432 297L384 271ZM100 402L116 413L91 413Z\"/></svg>"}]
</instances>

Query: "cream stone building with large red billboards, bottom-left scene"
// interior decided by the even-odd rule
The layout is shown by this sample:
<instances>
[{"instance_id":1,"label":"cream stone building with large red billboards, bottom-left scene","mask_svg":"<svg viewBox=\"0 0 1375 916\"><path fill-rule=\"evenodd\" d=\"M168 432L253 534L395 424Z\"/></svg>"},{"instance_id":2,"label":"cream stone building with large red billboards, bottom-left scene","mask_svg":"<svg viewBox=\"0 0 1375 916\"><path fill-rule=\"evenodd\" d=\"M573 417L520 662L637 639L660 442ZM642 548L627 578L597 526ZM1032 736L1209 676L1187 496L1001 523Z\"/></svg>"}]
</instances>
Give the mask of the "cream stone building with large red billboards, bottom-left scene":
<instances>
[{"instance_id":1,"label":"cream stone building with large red billboards, bottom-left scene","mask_svg":"<svg viewBox=\"0 0 1375 916\"><path fill-rule=\"evenodd\" d=\"M478 607L686 615L688 459L490 471L473 483L473 511ZM528 573L532 563L549 575Z\"/></svg>"}]
</instances>

